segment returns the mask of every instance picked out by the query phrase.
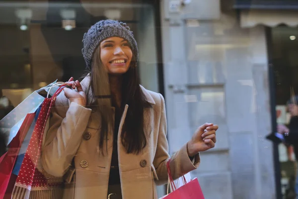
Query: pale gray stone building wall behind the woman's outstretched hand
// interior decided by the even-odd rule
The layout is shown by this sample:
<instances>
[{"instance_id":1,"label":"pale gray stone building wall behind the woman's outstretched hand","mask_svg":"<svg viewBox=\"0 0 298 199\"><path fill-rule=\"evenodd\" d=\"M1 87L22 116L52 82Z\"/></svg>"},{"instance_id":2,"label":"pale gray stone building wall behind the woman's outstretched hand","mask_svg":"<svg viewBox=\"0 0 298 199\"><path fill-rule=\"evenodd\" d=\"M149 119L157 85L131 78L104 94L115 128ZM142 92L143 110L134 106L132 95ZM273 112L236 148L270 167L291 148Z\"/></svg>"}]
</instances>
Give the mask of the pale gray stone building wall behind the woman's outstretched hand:
<instances>
[{"instance_id":1,"label":"pale gray stone building wall behind the woman's outstretched hand","mask_svg":"<svg viewBox=\"0 0 298 199\"><path fill-rule=\"evenodd\" d=\"M219 1L170 13L169 2L162 1L161 24L170 153L214 122L216 147L191 173L206 199L274 199L265 28L241 29L233 10L211 6Z\"/></svg>"}]
</instances>

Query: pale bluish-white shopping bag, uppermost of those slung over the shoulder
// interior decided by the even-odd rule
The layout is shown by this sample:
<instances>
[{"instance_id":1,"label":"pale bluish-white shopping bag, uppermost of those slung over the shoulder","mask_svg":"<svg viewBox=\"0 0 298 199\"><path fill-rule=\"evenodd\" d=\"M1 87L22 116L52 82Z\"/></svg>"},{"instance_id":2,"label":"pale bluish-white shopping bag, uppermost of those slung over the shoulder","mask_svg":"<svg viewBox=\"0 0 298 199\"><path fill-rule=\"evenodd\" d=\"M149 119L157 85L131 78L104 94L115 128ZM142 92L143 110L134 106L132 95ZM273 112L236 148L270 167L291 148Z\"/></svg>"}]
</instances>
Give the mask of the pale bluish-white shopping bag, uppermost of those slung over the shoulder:
<instances>
[{"instance_id":1,"label":"pale bluish-white shopping bag, uppermost of those slung over the shoulder","mask_svg":"<svg viewBox=\"0 0 298 199\"><path fill-rule=\"evenodd\" d=\"M26 114L35 112L35 110L43 102L44 97L39 95L39 93L42 91L46 91L52 96L59 88L59 86L53 87L56 83L57 80L46 87L34 91L31 95L29 95L25 100L19 103L13 110L11 110L5 117L0 120L1 132L4 133L6 137L8 137L6 145L10 143L12 138L18 132L18 129L23 123ZM50 90L50 88L52 89Z\"/></svg>"}]
</instances>

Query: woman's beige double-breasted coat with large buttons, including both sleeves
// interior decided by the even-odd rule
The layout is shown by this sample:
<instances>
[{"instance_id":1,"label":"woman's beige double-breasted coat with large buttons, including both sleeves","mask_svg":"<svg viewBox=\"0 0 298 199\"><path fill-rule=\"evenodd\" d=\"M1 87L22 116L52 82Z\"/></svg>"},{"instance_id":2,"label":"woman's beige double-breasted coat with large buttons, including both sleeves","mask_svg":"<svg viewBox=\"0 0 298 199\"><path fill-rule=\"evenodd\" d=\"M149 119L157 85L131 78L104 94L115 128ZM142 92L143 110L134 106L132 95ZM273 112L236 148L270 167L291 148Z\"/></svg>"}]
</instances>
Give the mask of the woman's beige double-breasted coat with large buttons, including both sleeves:
<instances>
[{"instance_id":1,"label":"woman's beige double-breasted coat with large buttons, including both sleeves","mask_svg":"<svg viewBox=\"0 0 298 199\"><path fill-rule=\"evenodd\" d=\"M81 82L86 90L89 76ZM160 94L148 91L141 86L148 102L144 121L151 132L148 145L140 155L127 154L119 141L118 159L123 199L157 199L155 185L167 183L166 162L170 158L166 139L166 114L164 99ZM90 93L88 94L90 95ZM90 101L88 102L90 103ZM119 132L125 120L128 105L125 106ZM107 199L113 133L109 133L108 153L98 152L98 132L100 115L69 100L62 92L52 109L50 129L47 131L42 150L42 164L49 174L62 177L69 173L75 185L74 199ZM184 132L181 132L184 133ZM74 160L74 170L70 170ZM199 166L200 156L191 161L187 155L186 144L171 157L171 170L174 178L181 177ZM70 191L70 190L68 190Z\"/></svg>"}]
</instances>

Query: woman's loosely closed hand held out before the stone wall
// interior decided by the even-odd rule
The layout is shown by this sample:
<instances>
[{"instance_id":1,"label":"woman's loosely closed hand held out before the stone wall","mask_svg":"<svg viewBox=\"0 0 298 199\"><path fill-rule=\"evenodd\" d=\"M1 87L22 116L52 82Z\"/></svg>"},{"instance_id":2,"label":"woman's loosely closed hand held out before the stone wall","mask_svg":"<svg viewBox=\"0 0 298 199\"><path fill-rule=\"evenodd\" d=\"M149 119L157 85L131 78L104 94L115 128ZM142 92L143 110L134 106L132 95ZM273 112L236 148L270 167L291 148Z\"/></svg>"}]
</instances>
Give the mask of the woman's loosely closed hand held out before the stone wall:
<instances>
[{"instance_id":1,"label":"woman's loosely closed hand held out before the stone wall","mask_svg":"<svg viewBox=\"0 0 298 199\"><path fill-rule=\"evenodd\" d=\"M219 126L213 123L205 123L200 126L187 143L188 156L193 157L200 151L213 148L216 143L216 131L218 129Z\"/></svg>"}]
</instances>

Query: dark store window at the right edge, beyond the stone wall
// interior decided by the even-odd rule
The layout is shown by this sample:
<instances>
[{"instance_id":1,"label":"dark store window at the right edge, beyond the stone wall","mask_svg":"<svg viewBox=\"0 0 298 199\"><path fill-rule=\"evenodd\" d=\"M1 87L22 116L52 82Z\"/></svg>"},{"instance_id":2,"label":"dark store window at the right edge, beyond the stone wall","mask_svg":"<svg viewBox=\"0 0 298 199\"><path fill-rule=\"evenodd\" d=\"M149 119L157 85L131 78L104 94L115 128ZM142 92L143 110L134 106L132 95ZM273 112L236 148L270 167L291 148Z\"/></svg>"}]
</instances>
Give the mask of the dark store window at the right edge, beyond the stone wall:
<instances>
[{"instance_id":1,"label":"dark store window at the right edge, beyond the stone wall","mask_svg":"<svg viewBox=\"0 0 298 199\"><path fill-rule=\"evenodd\" d=\"M298 92L298 65L297 52L298 43L296 37L298 36L298 29L281 25L271 28L270 30L270 44L272 46L271 62L274 71L275 83L275 101L276 101L276 120L277 126L285 126L290 132L295 131L295 121L291 118L296 116L291 113L289 100L295 99ZM290 109L289 109L290 108ZM294 127L295 128L295 127ZM295 155L296 145L279 144L279 162L281 172L281 189L285 197L289 197L291 190L295 187L295 179L297 175L297 163ZM277 171L279 172L279 171Z\"/></svg>"}]
</instances>

